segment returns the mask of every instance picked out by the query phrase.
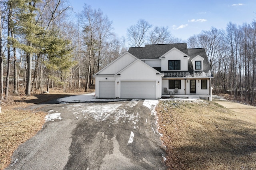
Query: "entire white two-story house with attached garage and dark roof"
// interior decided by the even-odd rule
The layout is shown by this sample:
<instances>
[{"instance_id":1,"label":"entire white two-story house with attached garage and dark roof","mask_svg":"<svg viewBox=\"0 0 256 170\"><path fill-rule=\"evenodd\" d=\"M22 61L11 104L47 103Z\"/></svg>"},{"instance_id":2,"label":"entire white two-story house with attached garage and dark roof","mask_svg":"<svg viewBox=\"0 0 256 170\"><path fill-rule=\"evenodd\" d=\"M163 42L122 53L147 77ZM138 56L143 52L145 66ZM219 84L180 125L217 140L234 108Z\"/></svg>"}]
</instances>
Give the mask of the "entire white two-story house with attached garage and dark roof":
<instances>
[{"instance_id":1,"label":"entire white two-story house with attached garage and dark roof","mask_svg":"<svg viewBox=\"0 0 256 170\"><path fill-rule=\"evenodd\" d=\"M213 78L203 48L186 43L131 47L94 75L97 98L211 100Z\"/></svg>"}]
</instances>

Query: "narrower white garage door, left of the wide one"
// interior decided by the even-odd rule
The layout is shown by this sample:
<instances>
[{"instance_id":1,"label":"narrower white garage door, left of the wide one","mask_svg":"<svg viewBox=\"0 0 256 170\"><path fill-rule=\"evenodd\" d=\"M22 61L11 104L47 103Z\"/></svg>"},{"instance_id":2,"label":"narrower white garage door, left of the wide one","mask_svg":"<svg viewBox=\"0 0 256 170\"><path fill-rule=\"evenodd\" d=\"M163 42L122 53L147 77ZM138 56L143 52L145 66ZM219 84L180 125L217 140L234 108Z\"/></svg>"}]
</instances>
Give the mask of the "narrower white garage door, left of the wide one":
<instances>
[{"instance_id":1,"label":"narrower white garage door, left of the wide one","mask_svg":"<svg viewBox=\"0 0 256 170\"><path fill-rule=\"evenodd\" d=\"M115 81L99 81L99 98L116 98Z\"/></svg>"}]
</instances>

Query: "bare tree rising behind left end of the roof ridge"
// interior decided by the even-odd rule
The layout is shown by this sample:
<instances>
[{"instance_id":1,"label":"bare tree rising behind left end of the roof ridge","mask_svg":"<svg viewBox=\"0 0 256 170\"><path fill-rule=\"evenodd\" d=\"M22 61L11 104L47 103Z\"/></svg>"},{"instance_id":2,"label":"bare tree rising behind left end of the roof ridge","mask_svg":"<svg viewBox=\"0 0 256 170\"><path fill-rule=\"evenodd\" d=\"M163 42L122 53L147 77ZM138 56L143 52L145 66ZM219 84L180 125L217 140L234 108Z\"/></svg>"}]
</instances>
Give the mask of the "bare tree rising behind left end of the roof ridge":
<instances>
[{"instance_id":1,"label":"bare tree rising behind left end of the roof ridge","mask_svg":"<svg viewBox=\"0 0 256 170\"><path fill-rule=\"evenodd\" d=\"M136 25L127 29L128 42L133 47L140 47L147 40L147 32L152 27L143 19L138 20Z\"/></svg>"}]
</instances>

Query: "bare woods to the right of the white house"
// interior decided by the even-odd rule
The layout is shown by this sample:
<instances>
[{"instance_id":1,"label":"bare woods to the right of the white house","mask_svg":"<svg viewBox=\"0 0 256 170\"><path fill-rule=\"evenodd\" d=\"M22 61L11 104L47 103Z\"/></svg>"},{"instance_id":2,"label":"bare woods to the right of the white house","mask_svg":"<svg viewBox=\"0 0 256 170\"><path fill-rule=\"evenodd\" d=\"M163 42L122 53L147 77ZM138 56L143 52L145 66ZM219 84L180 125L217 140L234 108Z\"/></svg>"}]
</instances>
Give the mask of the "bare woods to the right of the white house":
<instances>
[{"instance_id":1,"label":"bare woods to the right of the white house","mask_svg":"<svg viewBox=\"0 0 256 170\"><path fill-rule=\"evenodd\" d=\"M229 93L255 104L256 21L241 26L230 22L226 30L202 31L191 36L188 45L205 48L214 74L214 93Z\"/></svg>"}]
</instances>

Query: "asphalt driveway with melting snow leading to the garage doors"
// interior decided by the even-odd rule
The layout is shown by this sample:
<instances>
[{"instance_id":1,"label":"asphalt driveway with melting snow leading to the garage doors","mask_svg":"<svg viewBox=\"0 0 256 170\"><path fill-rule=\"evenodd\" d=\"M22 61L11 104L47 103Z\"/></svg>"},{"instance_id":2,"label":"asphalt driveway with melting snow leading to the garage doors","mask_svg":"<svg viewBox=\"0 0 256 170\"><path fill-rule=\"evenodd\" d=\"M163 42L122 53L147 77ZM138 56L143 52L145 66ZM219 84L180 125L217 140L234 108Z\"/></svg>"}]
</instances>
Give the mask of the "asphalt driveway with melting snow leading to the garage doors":
<instances>
[{"instance_id":1,"label":"asphalt driveway with melting snow leading to the garage doors","mask_svg":"<svg viewBox=\"0 0 256 170\"><path fill-rule=\"evenodd\" d=\"M46 123L18 147L6 170L166 169L154 114L157 100L82 95L58 101L27 108L47 112Z\"/></svg>"}]
</instances>

